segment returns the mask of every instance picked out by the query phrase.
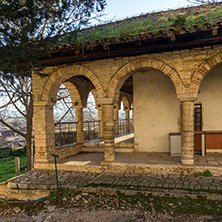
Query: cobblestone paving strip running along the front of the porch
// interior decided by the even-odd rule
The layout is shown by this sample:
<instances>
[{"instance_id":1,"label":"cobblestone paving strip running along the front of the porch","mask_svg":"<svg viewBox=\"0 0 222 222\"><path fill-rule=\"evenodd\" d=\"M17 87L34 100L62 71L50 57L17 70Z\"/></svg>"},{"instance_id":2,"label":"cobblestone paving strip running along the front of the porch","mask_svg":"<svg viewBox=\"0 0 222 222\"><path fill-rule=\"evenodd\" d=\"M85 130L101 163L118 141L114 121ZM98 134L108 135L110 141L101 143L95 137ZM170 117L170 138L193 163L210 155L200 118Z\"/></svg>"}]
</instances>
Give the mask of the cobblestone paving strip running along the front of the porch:
<instances>
[{"instance_id":1,"label":"cobblestone paving strip running along the front of the porch","mask_svg":"<svg viewBox=\"0 0 222 222\"><path fill-rule=\"evenodd\" d=\"M148 175L129 173L92 173L59 171L59 185L62 187L105 187L130 190L184 190L222 193L222 177L194 177L179 175ZM32 170L10 181L19 188L55 188L54 170Z\"/></svg>"}]
</instances>

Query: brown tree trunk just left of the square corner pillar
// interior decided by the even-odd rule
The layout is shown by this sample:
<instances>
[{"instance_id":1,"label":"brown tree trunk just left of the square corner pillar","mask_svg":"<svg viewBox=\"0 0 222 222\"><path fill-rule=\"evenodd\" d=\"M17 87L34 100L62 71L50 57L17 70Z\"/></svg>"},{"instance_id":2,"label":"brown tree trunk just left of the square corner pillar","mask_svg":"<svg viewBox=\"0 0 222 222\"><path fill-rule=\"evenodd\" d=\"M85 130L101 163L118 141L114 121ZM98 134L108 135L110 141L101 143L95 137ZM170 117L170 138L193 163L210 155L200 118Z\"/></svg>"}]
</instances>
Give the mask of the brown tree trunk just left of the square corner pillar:
<instances>
[{"instance_id":1,"label":"brown tree trunk just left of the square corner pillar","mask_svg":"<svg viewBox=\"0 0 222 222\"><path fill-rule=\"evenodd\" d=\"M32 169L33 165L33 150L32 150L32 138L33 138L33 101L32 94L30 95L30 102L27 109L26 114L26 129L27 129L27 139L26 139L26 147L27 147L27 171Z\"/></svg>"}]
</instances>

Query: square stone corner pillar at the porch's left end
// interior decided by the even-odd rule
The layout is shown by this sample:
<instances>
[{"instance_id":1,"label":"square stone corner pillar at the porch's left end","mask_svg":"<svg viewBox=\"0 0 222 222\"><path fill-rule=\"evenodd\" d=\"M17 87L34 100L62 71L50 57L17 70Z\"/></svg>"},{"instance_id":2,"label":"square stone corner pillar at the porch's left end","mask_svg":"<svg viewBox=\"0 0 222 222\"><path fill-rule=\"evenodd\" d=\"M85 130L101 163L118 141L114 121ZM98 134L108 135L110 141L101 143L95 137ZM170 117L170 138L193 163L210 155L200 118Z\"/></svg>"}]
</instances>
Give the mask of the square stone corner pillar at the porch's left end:
<instances>
[{"instance_id":1,"label":"square stone corner pillar at the porch's left end","mask_svg":"<svg viewBox=\"0 0 222 222\"><path fill-rule=\"evenodd\" d=\"M53 104L38 101L33 105L35 162L50 162L55 147Z\"/></svg>"}]
</instances>

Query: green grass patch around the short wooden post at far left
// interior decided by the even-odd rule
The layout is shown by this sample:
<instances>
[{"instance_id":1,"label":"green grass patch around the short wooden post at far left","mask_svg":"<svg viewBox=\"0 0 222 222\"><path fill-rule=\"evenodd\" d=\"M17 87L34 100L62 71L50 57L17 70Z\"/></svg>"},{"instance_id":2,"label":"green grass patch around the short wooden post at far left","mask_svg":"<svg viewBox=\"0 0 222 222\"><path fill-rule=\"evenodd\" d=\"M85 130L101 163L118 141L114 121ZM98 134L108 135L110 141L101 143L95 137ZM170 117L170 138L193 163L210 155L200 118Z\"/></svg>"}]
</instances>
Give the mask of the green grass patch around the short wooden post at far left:
<instances>
[{"instance_id":1,"label":"green grass patch around the short wooden post at far left","mask_svg":"<svg viewBox=\"0 0 222 222\"><path fill-rule=\"evenodd\" d=\"M8 180L15 175L15 157L10 155L10 149L0 149L0 182ZM20 156L21 174L25 172L27 164L27 156Z\"/></svg>"}]
</instances>

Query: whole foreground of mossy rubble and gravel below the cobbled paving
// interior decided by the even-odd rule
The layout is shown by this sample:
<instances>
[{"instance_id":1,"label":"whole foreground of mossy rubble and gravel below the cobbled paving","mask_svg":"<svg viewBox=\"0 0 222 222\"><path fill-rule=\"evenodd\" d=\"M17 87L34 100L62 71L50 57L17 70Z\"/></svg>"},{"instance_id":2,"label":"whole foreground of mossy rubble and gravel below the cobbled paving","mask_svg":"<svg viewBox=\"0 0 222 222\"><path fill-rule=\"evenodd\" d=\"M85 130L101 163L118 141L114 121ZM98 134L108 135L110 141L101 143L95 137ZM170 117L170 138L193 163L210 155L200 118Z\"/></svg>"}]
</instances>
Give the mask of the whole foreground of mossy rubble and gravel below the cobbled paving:
<instances>
[{"instance_id":1,"label":"whole foreground of mossy rubble and gravel below the cobbled paving","mask_svg":"<svg viewBox=\"0 0 222 222\"><path fill-rule=\"evenodd\" d=\"M0 202L0 222L213 222L222 221L222 201L140 194L129 196L55 192L39 203Z\"/></svg>"}]
</instances>

